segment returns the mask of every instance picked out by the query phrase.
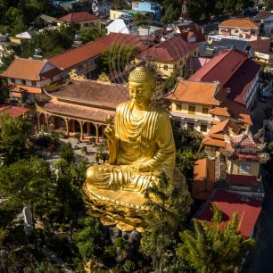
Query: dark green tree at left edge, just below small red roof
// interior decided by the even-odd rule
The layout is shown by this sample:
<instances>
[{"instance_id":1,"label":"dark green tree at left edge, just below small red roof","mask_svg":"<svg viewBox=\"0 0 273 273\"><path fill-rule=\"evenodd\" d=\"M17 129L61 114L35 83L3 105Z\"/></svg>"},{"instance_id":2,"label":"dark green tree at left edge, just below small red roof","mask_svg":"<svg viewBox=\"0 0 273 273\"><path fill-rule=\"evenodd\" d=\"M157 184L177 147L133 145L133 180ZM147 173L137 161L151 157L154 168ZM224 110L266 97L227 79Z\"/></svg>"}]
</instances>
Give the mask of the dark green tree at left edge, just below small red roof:
<instances>
[{"instance_id":1,"label":"dark green tree at left edge, just below small red roof","mask_svg":"<svg viewBox=\"0 0 273 273\"><path fill-rule=\"evenodd\" d=\"M31 123L24 118L3 118L1 131L4 162L10 164L24 158L27 153L27 140L31 133Z\"/></svg>"}]
</instances>

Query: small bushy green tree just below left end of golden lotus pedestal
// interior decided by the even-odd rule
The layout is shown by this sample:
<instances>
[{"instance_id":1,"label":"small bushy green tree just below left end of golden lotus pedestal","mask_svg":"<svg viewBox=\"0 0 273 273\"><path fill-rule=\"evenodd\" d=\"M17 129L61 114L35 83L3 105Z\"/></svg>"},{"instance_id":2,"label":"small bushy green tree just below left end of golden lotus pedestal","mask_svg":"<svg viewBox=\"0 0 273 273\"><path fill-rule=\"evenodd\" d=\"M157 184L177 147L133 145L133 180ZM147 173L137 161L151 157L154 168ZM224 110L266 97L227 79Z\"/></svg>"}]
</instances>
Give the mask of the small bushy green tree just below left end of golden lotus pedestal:
<instances>
[{"instance_id":1,"label":"small bushy green tree just below left end of golden lotus pedestal","mask_svg":"<svg viewBox=\"0 0 273 273\"><path fill-rule=\"evenodd\" d=\"M83 260L89 261L98 252L102 225L92 217L79 219L79 225L82 229L73 234L72 239L76 242Z\"/></svg>"}]
</instances>

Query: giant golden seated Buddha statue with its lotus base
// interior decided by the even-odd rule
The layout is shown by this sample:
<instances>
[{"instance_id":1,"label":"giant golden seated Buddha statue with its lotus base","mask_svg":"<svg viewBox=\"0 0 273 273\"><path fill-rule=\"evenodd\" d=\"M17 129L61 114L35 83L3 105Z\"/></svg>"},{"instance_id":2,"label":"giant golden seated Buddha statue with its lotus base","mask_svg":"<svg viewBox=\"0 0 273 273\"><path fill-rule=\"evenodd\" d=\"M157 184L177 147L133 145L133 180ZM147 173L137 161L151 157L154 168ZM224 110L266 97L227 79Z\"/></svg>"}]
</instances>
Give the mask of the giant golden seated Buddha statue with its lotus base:
<instances>
[{"instance_id":1,"label":"giant golden seated Buddha statue with its lotus base","mask_svg":"<svg viewBox=\"0 0 273 273\"><path fill-rule=\"evenodd\" d=\"M83 186L90 213L105 225L141 231L144 191L165 172L181 193L187 193L184 176L176 169L176 149L169 113L154 106L153 73L137 67L128 77L130 101L118 105L114 126L104 129L109 161L87 170Z\"/></svg>"}]
</instances>

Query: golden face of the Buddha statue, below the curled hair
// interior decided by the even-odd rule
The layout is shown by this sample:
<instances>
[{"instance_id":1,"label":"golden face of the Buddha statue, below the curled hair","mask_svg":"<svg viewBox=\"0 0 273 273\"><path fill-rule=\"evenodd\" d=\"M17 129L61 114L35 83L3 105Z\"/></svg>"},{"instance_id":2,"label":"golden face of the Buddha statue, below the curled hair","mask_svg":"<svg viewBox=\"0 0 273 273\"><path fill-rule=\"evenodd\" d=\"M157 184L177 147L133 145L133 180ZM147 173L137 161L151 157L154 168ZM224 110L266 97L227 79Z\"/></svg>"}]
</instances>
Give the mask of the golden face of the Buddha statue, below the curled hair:
<instances>
[{"instance_id":1,"label":"golden face of the Buddha statue, below the curled hair","mask_svg":"<svg viewBox=\"0 0 273 273\"><path fill-rule=\"evenodd\" d=\"M153 91L153 83L136 83L129 82L129 95L136 106L145 106L150 102Z\"/></svg>"}]
</instances>

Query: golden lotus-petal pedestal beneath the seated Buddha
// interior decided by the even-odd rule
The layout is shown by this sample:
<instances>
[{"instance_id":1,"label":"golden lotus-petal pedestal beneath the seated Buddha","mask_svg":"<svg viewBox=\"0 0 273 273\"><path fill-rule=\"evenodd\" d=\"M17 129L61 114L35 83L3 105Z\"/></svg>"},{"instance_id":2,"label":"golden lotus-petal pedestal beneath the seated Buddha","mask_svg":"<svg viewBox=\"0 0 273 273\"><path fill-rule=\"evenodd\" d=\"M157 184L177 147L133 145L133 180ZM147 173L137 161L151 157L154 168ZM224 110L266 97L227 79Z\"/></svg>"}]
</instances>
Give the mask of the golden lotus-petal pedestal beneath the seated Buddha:
<instances>
[{"instance_id":1,"label":"golden lotus-petal pedestal beneath the seated Buddha","mask_svg":"<svg viewBox=\"0 0 273 273\"><path fill-rule=\"evenodd\" d=\"M111 191L83 186L84 201L91 216L101 219L105 226L116 226L122 231L131 232L136 229L143 232L147 213L145 198L135 192Z\"/></svg>"}]
</instances>

